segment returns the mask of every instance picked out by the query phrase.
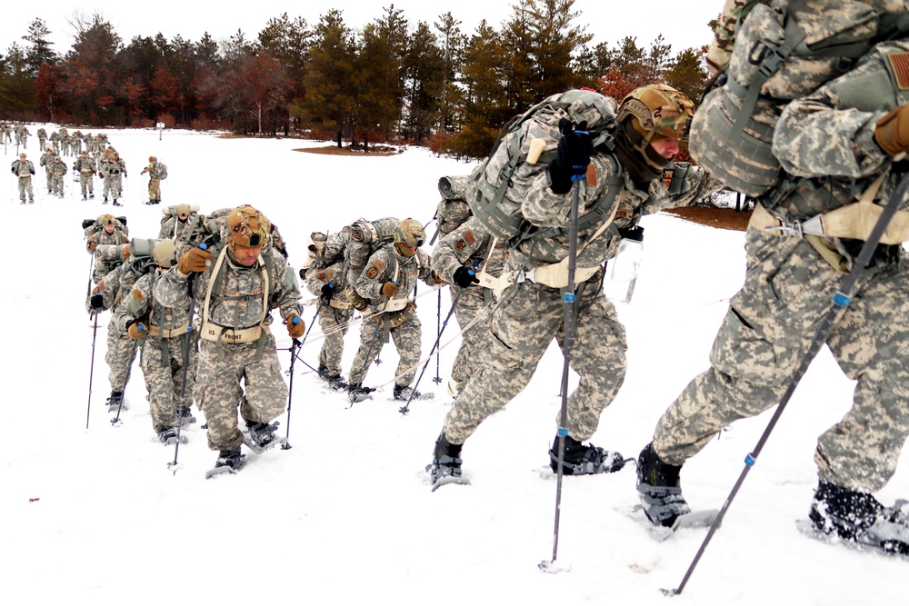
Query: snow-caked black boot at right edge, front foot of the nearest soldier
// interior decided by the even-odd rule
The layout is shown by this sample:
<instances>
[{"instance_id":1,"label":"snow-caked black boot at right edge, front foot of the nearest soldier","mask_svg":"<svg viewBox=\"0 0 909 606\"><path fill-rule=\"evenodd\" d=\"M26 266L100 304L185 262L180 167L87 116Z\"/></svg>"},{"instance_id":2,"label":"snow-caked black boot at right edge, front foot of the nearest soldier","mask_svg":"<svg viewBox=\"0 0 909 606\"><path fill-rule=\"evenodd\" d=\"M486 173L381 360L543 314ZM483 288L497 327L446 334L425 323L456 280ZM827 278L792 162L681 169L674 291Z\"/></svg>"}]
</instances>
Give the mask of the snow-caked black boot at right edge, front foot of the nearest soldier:
<instances>
[{"instance_id":1,"label":"snow-caked black boot at right edge, front foot of the nearest soldier","mask_svg":"<svg viewBox=\"0 0 909 606\"><path fill-rule=\"evenodd\" d=\"M888 553L909 555L907 502L884 507L868 492L852 491L831 482L818 482L808 517L814 529L844 541L868 545Z\"/></svg>"}]
</instances>

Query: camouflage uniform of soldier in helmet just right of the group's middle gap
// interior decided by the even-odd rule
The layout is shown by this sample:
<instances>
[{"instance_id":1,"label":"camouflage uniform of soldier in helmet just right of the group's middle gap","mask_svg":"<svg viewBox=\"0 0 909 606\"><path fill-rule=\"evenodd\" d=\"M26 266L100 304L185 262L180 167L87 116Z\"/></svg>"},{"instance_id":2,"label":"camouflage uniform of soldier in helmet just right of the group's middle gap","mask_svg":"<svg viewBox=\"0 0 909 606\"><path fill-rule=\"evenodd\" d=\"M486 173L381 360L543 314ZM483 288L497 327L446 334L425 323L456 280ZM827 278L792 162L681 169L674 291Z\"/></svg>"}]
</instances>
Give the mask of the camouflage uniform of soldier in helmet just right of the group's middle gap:
<instances>
[{"instance_id":1,"label":"camouflage uniform of soldier in helmet just right of the group's middle gap","mask_svg":"<svg viewBox=\"0 0 909 606\"><path fill-rule=\"evenodd\" d=\"M433 276L429 256L417 249L414 256L405 257L399 253L394 243L380 246L366 262L365 269L356 281L356 293L372 304L369 315L364 316L360 329L360 348L356 351L347 382L350 385L362 385L373 358L382 350L391 334L400 360L395 371L395 385L407 386L414 382L416 364L420 361L421 324L414 313L416 303L409 302L395 312L385 312L385 306L406 301L414 291L417 279L427 284L440 283ZM397 291L390 299L382 294L386 282L396 282ZM395 303L392 303L395 302Z\"/></svg>"}]
</instances>

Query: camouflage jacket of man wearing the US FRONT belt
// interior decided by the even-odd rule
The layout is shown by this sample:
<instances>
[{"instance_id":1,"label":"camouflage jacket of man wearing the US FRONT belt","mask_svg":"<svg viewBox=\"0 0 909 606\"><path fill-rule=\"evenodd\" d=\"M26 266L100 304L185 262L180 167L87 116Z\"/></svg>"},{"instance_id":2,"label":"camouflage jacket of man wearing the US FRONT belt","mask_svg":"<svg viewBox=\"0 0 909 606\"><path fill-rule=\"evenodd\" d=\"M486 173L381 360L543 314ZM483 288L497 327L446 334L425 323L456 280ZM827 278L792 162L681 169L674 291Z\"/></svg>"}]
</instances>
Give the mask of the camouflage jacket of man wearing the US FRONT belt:
<instances>
[{"instance_id":1,"label":"camouflage jacket of man wearing the US FRONT belt","mask_svg":"<svg viewBox=\"0 0 909 606\"><path fill-rule=\"evenodd\" d=\"M217 249L215 249L217 250ZM285 320L292 315L300 315L303 307L300 304L300 288L296 282L294 268L287 263L284 255L272 250L265 259L265 253L260 261L251 267L234 263L229 253L225 253L221 270L215 279L212 273L217 264L221 251L215 253L215 259L205 272L195 275L195 305L202 313L205 298L211 282L212 293L209 303L207 320L218 326L244 329L257 325L263 315L265 323L271 323L272 318L268 313L277 308ZM265 266L263 266L265 261ZM270 265L270 267L269 267ZM268 272L268 301L263 300L264 277L263 272ZM155 281L155 300L165 307L188 307L192 301L187 281L188 275L180 273L176 266L172 267L161 278Z\"/></svg>"}]
</instances>

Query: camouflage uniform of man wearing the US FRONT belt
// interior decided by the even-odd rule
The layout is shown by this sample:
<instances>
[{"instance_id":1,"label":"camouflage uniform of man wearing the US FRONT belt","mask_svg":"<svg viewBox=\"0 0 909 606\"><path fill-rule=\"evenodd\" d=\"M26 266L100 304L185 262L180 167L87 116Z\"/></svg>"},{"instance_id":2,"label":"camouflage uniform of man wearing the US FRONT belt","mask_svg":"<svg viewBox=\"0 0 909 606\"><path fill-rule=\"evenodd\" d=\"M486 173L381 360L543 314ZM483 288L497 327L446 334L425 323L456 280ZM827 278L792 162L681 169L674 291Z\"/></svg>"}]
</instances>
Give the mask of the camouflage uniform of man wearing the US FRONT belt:
<instances>
[{"instance_id":1,"label":"camouflage uniform of man wearing the US FRONT belt","mask_svg":"<svg viewBox=\"0 0 909 606\"><path fill-rule=\"evenodd\" d=\"M220 253L217 249L215 252ZM272 323L268 311L278 308L285 319L302 311L294 269L281 253L274 249L264 251L251 267L235 263L227 252L224 255L220 275L215 276L208 321L228 333L231 329L255 327L260 321L264 328L259 340L252 343L199 341L195 401L205 413L208 447L213 451L233 451L243 442L243 434L237 427L238 404L246 422L269 423L284 412L287 386L281 376L275 336L267 329ZM270 261L265 260L264 266L266 256L270 256ZM213 261L205 272L192 274L195 275L195 304L200 309L212 286L209 282L215 265ZM264 271L269 272L267 303L262 300ZM188 293L188 278L177 267L171 268L155 283L155 301L165 307L188 308L193 303ZM245 383L245 391L241 381Z\"/></svg>"}]
</instances>

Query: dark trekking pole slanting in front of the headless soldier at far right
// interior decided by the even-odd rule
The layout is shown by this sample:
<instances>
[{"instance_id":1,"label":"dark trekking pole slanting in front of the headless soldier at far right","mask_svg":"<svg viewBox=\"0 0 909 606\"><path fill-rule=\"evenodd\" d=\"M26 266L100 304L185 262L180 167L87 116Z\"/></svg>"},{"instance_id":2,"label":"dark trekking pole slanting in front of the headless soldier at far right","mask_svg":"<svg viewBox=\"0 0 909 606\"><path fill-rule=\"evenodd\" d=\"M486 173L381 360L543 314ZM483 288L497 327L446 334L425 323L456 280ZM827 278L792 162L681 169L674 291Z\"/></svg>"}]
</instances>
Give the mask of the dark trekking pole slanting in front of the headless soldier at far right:
<instances>
[{"instance_id":1,"label":"dark trekking pole slanting in front of the headless soldier at far right","mask_svg":"<svg viewBox=\"0 0 909 606\"><path fill-rule=\"evenodd\" d=\"M900 154L894 158L894 162L902 160L905 154ZM880 179L883 180L886 173L881 175ZM874 185L872 185L874 187ZM786 388L783 398L780 400L779 405L776 407L773 417L771 417L770 422L767 423L767 428L764 430L764 433L761 434L761 439L758 440L757 445L754 447L754 451L748 453L744 458L744 468L742 473L739 474L738 480L735 481L732 492L729 493L729 496L726 497L726 501L723 503L723 507L720 509L720 512L716 515L714 523L711 524L710 530L707 531L707 536L704 537L704 542L701 543L701 547L698 548L697 553L694 554L694 560L691 562L691 565L688 566L688 570L685 571L682 582L679 583L679 586L675 589L662 589L664 595L678 595L684 590L684 586L687 584L688 580L691 578L692 573L694 572L694 567L697 566L697 562L701 560L701 556L704 555L704 550L707 549L707 544L714 537L714 532L719 528L720 524L723 522L724 515L729 510L729 506L732 505L733 499L735 498L736 493L739 491L739 488L742 487L744 483L745 476L748 475L748 472L751 471L751 468L754 467L754 462L757 461L758 455L761 454L761 451L764 449L764 444L770 438L770 432L774 431L774 426L776 422L779 421L780 416L783 414L783 411L786 407L786 404L789 403L789 399L792 397L795 388L798 386L799 382L802 380L802 376L808 370L808 366L814 360L814 356L821 350L821 347L826 343L827 338L830 336L830 333L834 329L834 324L840 319L840 315L845 311L845 308L849 306L849 303L852 303L852 291L855 287L855 283L858 282L859 275L864 271L868 266L868 263L871 261L871 256L874 254L874 249L877 247L877 244L880 242L881 237L884 235L884 232L887 230L887 225L890 224L890 220L896 214L896 208L903 200L904 195L907 190L909 190L909 175L904 176L900 183L894 189L894 192L890 194L890 198L887 200L887 205L884 206L884 211L881 213L881 216L877 219L877 223L874 224L874 229L871 230L871 233L868 235L868 239L865 240L862 251L858 254L858 258L855 259L853 263L852 270L843 278L843 281L840 283L839 289L834 293L833 304L830 307L830 310L824 316L824 320L821 322L820 328L818 328L817 333L814 335L814 341L811 343L811 346L808 348L808 351L804 354L802 364L798 367L798 370L795 371L795 374L792 378L792 381L789 382L789 386Z\"/></svg>"}]
</instances>

